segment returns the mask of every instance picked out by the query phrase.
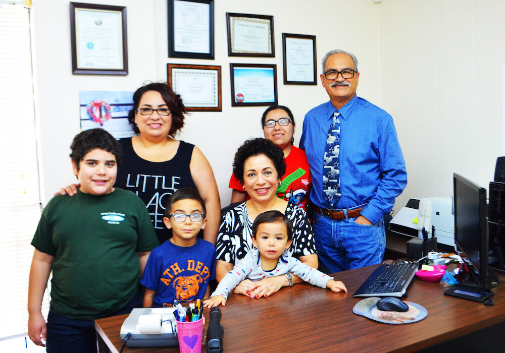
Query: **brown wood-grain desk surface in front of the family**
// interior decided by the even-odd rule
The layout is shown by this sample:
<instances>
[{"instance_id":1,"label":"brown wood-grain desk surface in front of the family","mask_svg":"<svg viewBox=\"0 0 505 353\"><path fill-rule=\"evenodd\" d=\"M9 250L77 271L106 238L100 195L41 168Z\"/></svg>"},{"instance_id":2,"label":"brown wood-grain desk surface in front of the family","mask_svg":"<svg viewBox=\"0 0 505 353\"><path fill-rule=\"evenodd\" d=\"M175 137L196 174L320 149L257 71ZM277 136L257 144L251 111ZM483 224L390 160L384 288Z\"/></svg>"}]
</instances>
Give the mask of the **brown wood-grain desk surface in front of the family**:
<instances>
[{"instance_id":1,"label":"brown wood-grain desk surface in front of the family","mask_svg":"<svg viewBox=\"0 0 505 353\"><path fill-rule=\"evenodd\" d=\"M408 300L428 310L428 317L406 325L389 325L371 321L352 313L361 299L352 293L372 273L376 266L364 267L337 274L347 294L299 283L282 288L272 297L250 299L231 295L221 307L224 326L224 348L239 351L402 351L427 348L505 321L505 284L494 288L494 306L444 296L439 283L423 282L414 278ZM501 283L505 276L500 275ZM204 311L208 318L209 310ZM95 327L111 347L119 350L122 341L119 330L127 315L95 321ZM204 327L205 334L206 327ZM109 338L106 338L109 337ZM114 347L112 347L112 345ZM129 348L124 352L178 352L176 347ZM205 352L205 347L203 349Z\"/></svg>"}]
</instances>

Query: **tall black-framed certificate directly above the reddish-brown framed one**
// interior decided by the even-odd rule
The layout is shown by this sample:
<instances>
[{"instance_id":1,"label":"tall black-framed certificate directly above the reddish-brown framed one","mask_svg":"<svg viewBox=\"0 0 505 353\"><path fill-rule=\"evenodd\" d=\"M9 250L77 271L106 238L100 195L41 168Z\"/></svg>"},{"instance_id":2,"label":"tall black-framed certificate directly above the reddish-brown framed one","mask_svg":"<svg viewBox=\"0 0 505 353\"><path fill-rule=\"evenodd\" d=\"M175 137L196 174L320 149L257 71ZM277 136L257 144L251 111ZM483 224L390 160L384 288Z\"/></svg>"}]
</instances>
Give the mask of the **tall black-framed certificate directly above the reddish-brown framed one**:
<instances>
[{"instance_id":1,"label":"tall black-framed certificate directly above the reddish-brown framed one","mask_svg":"<svg viewBox=\"0 0 505 353\"><path fill-rule=\"evenodd\" d=\"M168 56L214 59L214 0L168 0Z\"/></svg>"}]
</instances>

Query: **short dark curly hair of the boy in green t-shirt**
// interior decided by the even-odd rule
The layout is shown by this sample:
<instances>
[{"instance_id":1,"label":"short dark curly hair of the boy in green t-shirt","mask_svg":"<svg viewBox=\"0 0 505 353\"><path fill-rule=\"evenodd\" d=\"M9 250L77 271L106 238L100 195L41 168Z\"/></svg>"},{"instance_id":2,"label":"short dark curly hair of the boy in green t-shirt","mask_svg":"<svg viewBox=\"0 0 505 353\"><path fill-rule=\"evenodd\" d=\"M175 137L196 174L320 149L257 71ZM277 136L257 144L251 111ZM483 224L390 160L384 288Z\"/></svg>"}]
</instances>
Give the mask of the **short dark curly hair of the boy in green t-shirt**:
<instances>
[{"instance_id":1,"label":"short dark curly hair of the boy in green t-shirt","mask_svg":"<svg viewBox=\"0 0 505 353\"><path fill-rule=\"evenodd\" d=\"M119 142L104 129L85 130L75 135L70 149L70 158L75 163L77 171L79 171L79 163L84 159L84 156L95 148L112 153L116 157L116 164L121 165L123 153Z\"/></svg>"}]
</instances>

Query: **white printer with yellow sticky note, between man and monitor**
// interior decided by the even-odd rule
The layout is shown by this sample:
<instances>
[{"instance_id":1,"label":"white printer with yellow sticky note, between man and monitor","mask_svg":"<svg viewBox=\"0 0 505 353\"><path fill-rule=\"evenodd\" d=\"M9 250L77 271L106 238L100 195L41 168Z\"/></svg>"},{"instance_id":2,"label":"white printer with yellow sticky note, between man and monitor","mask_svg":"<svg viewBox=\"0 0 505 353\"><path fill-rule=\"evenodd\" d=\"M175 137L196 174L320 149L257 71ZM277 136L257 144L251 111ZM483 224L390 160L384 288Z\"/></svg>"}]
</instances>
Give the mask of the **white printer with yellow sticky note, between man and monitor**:
<instances>
[{"instance_id":1,"label":"white printer with yellow sticky note, between man and monitor","mask_svg":"<svg viewBox=\"0 0 505 353\"><path fill-rule=\"evenodd\" d=\"M423 239L421 234L423 226L428 233L431 233L432 226L434 226L434 236L437 237L437 242L453 247L452 197L410 199L407 205L402 207L389 222L390 231L421 239ZM428 237L430 238L431 235Z\"/></svg>"}]
</instances>

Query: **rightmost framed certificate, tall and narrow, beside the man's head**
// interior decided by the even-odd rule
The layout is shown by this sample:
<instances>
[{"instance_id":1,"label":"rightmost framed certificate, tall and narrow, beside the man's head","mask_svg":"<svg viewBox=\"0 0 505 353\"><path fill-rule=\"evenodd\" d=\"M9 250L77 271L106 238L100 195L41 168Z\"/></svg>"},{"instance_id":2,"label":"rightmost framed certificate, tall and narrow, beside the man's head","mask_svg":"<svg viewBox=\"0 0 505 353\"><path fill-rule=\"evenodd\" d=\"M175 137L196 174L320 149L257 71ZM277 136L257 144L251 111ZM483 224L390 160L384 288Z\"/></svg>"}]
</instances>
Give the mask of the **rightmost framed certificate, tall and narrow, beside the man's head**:
<instances>
[{"instance_id":1,"label":"rightmost framed certificate, tall and narrow, beside the man's head","mask_svg":"<svg viewBox=\"0 0 505 353\"><path fill-rule=\"evenodd\" d=\"M285 85L317 85L316 36L282 33Z\"/></svg>"}]
</instances>

